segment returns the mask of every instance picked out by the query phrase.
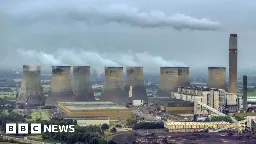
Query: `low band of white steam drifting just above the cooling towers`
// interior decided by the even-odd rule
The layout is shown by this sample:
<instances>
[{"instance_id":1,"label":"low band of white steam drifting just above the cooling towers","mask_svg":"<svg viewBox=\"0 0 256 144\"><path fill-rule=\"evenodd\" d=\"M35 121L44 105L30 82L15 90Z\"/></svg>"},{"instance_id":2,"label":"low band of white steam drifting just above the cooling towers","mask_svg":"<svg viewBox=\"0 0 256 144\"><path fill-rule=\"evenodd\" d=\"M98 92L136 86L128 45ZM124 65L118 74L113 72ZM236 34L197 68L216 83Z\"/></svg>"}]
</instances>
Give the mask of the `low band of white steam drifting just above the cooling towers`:
<instances>
[{"instance_id":1,"label":"low band of white steam drifting just above the cooling towers","mask_svg":"<svg viewBox=\"0 0 256 144\"><path fill-rule=\"evenodd\" d=\"M143 53L118 53L103 56L97 52L84 50L60 49L53 54L35 51L18 50L22 62L26 64L52 66L52 65L81 65L91 66L98 72L103 72L105 66L143 66L147 72L158 72L162 66L187 66L182 62L165 60L160 56ZM22 64L21 64L22 65Z\"/></svg>"}]
</instances>

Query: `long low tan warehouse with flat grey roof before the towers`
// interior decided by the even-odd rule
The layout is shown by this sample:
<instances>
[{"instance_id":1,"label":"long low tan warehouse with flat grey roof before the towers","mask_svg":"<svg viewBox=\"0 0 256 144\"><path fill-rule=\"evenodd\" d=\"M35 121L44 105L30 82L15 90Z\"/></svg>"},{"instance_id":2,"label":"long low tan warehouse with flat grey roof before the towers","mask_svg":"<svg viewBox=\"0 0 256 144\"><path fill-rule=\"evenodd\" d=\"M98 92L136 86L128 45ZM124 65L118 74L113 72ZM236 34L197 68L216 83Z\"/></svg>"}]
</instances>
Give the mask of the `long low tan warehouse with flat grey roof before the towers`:
<instances>
[{"instance_id":1,"label":"long low tan warehouse with flat grey roof before the towers","mask_svg":"<svg viewBox=\"0 0 256 144\"><path fill-rule=\"evenodd\" d=\"M66 118L76 120L126 120L132 111L113 102L59 102L58 109Z\"/></svg>"}]
</instances>

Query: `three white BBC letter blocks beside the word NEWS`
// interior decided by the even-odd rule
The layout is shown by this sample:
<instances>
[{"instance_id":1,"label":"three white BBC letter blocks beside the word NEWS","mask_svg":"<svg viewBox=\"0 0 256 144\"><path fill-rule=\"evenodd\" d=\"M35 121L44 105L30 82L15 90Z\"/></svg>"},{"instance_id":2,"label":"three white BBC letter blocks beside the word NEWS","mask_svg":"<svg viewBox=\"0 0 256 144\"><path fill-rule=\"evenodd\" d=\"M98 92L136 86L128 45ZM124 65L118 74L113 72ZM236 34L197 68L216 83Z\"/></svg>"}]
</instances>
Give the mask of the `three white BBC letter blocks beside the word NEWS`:
<instances>
[{"instance_id":1,"label":"three white BBC letter blocks beside the word NEWS","mask_svg":"<svg viewBox=\"0 0 256 144\"><path fill-rule=\"evenodd\" d=\"M6 134L28 134L29 126L27 123L19 123L18 127L16 123L7 123L6 124ZM41 134L41 124L32 123L30 124L30 133L31 134Z\"/></svg>"}]
</instances>

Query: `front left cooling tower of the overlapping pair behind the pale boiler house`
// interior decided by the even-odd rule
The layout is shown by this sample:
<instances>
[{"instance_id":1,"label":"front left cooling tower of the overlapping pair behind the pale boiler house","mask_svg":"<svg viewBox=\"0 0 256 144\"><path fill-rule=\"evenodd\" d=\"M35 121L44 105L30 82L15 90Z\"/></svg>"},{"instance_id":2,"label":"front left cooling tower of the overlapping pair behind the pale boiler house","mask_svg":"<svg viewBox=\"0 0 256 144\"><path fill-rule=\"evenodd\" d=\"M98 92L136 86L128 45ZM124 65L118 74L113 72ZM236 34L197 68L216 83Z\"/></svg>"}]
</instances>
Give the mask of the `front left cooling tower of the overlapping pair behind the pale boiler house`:
<instances>
[{"instance_id":1,"label":"front left cooling tower of the overlapping pair behind the pale boiler house","mask_svg":"<svg viewBox=\"0 0 256 144\"><path fill-rule=\"evenodd\" d=\"M158 97L169 97L171 92L178 90L179 70L178 67L160 68L160 86L157 92Z\"/></svg>"}]
</instances>

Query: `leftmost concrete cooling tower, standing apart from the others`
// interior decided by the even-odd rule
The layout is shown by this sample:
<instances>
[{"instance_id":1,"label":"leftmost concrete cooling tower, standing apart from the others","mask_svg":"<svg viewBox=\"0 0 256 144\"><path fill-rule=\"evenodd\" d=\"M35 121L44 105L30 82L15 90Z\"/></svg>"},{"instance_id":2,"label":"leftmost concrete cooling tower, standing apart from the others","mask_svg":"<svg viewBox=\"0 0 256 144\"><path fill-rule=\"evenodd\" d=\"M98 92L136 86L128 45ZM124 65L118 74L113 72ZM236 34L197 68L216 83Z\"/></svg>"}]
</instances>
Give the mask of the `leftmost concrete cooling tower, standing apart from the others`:
<instances>
[{"instance_id":1,"label":"leftmost concrete cooling tower, standing apart from the others","mask_svg":"<svg viewBox=\"0 0 256 144\"><path fill-rule=\"evenodd\" d=\"M40 82L40 66L23 66L23 79L17 97L18 106L44 105L43 88Z\"/></svg>"}]
</instances>

